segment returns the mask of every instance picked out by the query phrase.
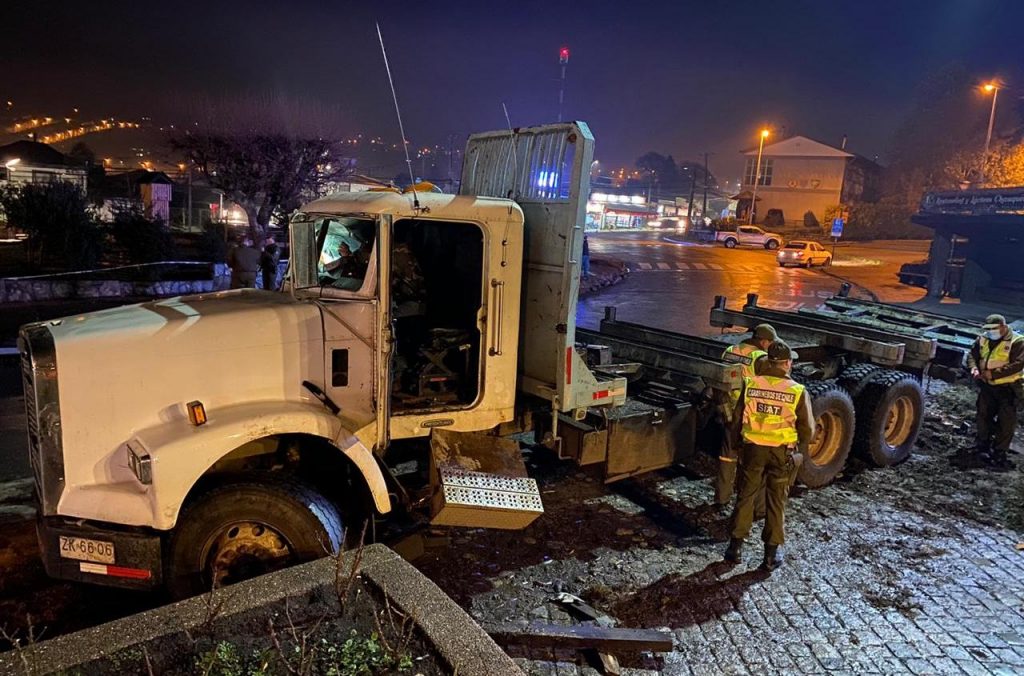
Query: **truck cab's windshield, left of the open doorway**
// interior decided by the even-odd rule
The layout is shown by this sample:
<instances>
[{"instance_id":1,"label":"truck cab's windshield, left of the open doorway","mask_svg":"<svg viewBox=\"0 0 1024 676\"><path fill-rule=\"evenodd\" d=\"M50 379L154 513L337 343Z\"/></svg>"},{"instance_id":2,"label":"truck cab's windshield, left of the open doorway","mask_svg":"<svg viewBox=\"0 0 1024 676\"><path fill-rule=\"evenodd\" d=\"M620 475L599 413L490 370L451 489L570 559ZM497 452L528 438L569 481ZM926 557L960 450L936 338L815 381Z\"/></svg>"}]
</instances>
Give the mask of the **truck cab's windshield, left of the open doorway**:
<instances>
[{"instance_id":1,"label":"truck cab's windshield, left of the open doorway","mask_svg":"<svg viewBox=\"0 0 1024 676\"><path fill-rule=\"evenodd\" d=\"M310 216L292 221L296 289L358 291L370 268L377 224L369 218Z\"/></svg>"}]
</instances>

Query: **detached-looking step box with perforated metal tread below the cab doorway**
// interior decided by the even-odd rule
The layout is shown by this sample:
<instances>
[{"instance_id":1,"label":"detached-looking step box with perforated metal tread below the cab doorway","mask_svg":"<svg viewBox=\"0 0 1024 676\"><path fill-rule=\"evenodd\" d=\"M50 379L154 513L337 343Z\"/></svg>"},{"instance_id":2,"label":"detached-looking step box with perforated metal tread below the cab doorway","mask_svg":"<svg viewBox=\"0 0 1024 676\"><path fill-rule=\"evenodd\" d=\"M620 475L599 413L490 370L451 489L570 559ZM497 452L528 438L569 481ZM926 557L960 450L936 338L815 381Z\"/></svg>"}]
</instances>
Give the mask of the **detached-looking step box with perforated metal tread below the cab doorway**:
<instances>
[{"instance_id":1,"label":"detached-looking step box with perforated metal tread below the cab doorway","mask_svg":"<svg viewBox=\"0 0 1024 676\"><path fill-rule=\"evenodd\" d=\"M544 513L519 442L436 429L430 437L434 525L524 529Z\"/></svg>"}]
</instances>

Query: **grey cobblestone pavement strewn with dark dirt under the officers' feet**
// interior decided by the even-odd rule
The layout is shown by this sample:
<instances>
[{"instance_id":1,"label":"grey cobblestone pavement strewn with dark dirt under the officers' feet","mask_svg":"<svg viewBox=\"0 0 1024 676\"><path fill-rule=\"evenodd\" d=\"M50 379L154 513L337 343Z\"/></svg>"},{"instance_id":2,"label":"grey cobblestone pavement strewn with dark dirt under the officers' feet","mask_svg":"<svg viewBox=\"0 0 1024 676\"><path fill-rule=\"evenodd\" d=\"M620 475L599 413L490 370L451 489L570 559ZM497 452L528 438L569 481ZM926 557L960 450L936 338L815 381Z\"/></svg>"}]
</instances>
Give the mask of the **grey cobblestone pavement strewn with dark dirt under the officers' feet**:
<instances>
[{"instance_id":1,"label":"grey cobblestone pavement strewn with dark dirt under the officers' feet","mask_svg":"<svg viewBox=\"0 0 1024 676\"><path fill-rule=\"evenodd\" d=\"M908 462L798 489L771 576L757 532L742 564L722 563L711 483L680 472L605 487L563 470L527 531L456 536L420 566L483 624L577 623L553 601L565 591L672 632L672 652L624 660L626 674L1024 673L1024 482L950 470L968 431L948 415L970 399L957 389L932 397ZM598 673L571 652L514 654L530 674Z\"/></svg>"}]
</instances>

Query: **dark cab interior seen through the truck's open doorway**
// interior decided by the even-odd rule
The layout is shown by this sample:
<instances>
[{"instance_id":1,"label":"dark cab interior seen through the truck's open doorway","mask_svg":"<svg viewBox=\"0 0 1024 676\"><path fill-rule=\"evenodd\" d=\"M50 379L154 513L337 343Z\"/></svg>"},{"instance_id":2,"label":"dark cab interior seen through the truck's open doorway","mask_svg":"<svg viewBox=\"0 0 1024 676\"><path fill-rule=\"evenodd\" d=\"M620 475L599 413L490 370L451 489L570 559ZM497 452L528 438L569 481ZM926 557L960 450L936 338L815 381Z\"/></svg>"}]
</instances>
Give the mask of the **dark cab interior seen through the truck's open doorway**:
<instances>
[{"instance_id":1,"label":"dark cab interior seen through the truck's open doorway","mask_svg":"<svg viewBox=\"0 0 1024 676\"><path fill-rule=\"evenodd\" d=\"M392 410L465 408L480 387L483 234L415 218L395 221L392 233Z\"/></svg>"}]
</instances>

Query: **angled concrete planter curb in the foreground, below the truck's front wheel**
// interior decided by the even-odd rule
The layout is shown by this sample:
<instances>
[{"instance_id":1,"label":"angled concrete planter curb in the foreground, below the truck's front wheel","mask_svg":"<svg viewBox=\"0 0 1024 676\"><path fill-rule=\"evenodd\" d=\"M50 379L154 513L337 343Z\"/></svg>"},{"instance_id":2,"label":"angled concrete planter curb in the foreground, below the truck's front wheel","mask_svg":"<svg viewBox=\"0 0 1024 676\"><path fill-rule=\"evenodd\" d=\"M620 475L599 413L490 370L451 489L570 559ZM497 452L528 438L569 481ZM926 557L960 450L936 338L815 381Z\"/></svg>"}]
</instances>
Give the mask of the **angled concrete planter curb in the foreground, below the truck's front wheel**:
<instances>
[{"instance_id":1,"label":"angled concrete planter curb in the foreground, below the truck's front wheel","mask_svg":"<svg viewBox=\"0 0 1024 676\"><path fill-rule=\"evenodd\" d=\"M350 571L354 557L354 552L346 552L337 565ZM362 550L359 575L379 589L392 605L413 618L427 641L455 673L522 675L511 658L465 610L389 548L367 546ZM211 607L216 608L218 623L261 608L270 611L269 606L285 599L334 594L337 578L333 558L304 563L217 590L212 595L198 596L42 641L19 652L9 650L0 654L0 674L42 675L69 670L75 673L76 669L127 648L201 631L210 626Z\"/></svg>"}]
</instances>

